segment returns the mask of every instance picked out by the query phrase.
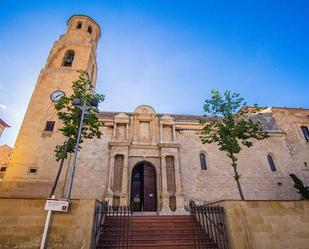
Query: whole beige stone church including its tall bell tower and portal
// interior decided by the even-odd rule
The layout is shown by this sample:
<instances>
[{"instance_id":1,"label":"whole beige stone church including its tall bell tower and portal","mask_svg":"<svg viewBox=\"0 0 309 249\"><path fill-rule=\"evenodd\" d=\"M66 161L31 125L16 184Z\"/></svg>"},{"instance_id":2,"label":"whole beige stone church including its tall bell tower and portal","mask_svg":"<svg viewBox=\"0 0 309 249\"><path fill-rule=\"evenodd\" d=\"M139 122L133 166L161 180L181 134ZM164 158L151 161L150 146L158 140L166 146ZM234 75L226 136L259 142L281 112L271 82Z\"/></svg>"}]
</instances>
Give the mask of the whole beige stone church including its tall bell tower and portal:
<instances>
[{"instance_id":1,"label":"whole beige stone church including its tall bell tower and portal","mask_svg":"<svg viewBox=\"0 0 309 249\"><path fill-rule=\"evenodd\" d=\"M96 82L100 27L90 17L69 19L42 69L16 144L0 183L1 197L46 198L59 163L54 102L70 95L78 69ZM77 160L73 198L109 199L136 211L183 213L186 203L239 199L233 171L214 144L200 141L202 116L160 114L141 105L131 112L101 112L101 139L86 141ZM309 110L266 108L253 113L270 138L243 148L239 158L246 199L298 199L289 174L309 183ZM207 118L204 118L207 121ZM69 158L57 188L65 196Z\"/></svg>"}]
</instances>

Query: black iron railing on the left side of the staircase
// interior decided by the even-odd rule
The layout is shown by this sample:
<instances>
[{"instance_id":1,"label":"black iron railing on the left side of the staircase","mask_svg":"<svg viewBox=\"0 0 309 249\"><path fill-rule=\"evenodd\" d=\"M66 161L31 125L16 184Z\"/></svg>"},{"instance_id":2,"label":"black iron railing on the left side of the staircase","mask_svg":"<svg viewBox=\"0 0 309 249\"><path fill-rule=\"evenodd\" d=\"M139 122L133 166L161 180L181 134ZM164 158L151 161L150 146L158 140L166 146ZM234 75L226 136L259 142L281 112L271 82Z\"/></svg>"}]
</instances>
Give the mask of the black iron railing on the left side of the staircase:
<instances>
[{"instance_id":1,"label":"black iron railing on the left side of the staircase","mask_svg":"<svg viewBox=\"0 0 309 249\"><path fill-rule=\"evenodd\" d=\"M98 202L93 249L132 248L132 211L127 206L112 207Z\"/></svg>"}]
</instances>

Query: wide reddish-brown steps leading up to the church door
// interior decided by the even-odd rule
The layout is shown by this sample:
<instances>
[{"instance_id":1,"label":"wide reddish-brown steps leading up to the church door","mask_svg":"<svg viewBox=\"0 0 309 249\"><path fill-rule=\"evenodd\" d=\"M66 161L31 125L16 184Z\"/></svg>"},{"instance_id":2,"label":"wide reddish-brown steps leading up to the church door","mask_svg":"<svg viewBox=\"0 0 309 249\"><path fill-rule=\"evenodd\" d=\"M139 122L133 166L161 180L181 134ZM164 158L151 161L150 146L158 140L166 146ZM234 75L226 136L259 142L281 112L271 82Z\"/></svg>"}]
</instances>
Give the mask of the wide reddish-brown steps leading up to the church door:
<instances>
[{"instance_id":1,"label":"wide reddish-brown steps leading up to the church door","mask_svg":"<svg viewBox=\"0 0 309 249\"><path fill-rule=\"evenodd\" d=\"M195 246L199 241L199 246ZM191 216L108 216L97 249L217 249Z\"/></svg>"}]
</instances>

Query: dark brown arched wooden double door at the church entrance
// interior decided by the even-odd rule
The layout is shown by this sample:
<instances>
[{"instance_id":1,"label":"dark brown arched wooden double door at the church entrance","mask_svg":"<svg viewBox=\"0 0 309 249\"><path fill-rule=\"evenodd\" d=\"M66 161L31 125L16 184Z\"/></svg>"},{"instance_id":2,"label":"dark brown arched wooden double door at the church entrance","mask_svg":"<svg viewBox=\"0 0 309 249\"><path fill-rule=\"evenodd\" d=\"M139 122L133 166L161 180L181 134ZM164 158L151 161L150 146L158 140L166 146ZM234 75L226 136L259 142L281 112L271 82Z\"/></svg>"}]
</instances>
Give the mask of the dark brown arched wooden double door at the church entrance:
<instances>
[{"instance_id":1,"label":"dark brown arched wooden double door at the church entrance","mask_svg":"<svg viewBox=\"0 0 309 249\"><path fill-rule=\"evenodd\" d=\"M135 212L157 211L156 171L147 162L133 168L130 203Z\"/></svg>"}]
</instances>

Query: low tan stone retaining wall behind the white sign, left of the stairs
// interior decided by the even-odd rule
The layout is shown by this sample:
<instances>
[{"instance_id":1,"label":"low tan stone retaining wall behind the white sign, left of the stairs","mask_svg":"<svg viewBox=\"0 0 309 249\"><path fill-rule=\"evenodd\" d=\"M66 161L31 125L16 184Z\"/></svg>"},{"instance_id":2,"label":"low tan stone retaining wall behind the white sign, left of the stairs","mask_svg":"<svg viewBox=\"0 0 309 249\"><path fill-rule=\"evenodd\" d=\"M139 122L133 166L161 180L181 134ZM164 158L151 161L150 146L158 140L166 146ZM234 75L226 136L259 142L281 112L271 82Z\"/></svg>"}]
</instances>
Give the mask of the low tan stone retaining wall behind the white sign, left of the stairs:
<instances>
[{"instance_id":1,"label":"low tan stone retaining wall behind the white sign, left of the stairs","mask_svg":"<svg viewBox=\"0 0 309 249\"><path fill-rule=\"evenodd\" d=\"M47 211L43 199L0 199L0 249L40 247ZM46 248L90 249L94 200L73 200L52 214Z\"/></svg>"}]
</instances>

